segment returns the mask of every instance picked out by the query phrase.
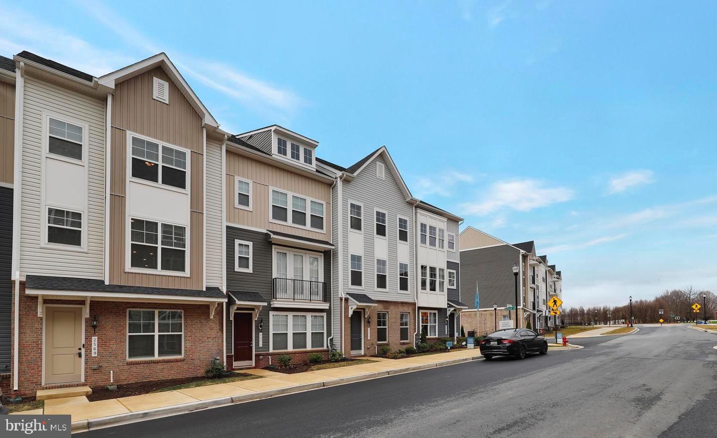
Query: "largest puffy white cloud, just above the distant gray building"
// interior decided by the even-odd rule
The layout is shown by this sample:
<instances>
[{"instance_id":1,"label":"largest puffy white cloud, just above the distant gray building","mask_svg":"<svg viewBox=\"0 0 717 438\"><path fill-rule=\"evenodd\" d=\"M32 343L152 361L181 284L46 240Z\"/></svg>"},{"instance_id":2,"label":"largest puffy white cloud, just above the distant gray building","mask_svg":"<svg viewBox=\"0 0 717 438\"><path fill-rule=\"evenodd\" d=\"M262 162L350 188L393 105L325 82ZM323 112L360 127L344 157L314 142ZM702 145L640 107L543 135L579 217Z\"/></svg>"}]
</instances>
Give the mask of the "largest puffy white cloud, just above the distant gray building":
<instances>
[{"instance_id":1,"label":"largest puffy white cloud, just above the distant gray building","mask_svg":"<svg viewBox=\"0 0 717 438\"><path fill-rule=\"evenodd\" d=\"M485 216L503 209L531 211L573 199L575 192L566 187L549 187L534 179L500 181L488 188L487 194L475 202L461 204L464 214Z\"/></svg>"}]
</instances>

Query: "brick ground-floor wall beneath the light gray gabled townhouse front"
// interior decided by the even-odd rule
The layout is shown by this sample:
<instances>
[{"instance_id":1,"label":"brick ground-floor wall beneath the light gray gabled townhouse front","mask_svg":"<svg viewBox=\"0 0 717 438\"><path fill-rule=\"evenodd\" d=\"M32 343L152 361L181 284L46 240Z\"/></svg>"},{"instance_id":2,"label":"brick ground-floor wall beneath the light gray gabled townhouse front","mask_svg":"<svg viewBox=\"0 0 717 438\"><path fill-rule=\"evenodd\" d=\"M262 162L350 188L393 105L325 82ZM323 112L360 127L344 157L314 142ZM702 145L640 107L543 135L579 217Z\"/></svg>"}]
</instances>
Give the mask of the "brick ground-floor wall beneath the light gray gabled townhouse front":
<instances>
[{"instance_id":1,"label":"brick ground-floor wall beneath the light gray gabled townhouse front","mask_svg":"<svg viewBox=\"0 0 717 438\"><path fill-rule=\"evenodd\" d=\"M351 318L348 316L348 300L343 304L343 353L351 356ZM376 342L376 312L389 313L389 341L387 343ZM409 314L409 341L402 342L401 339L401 313ZM367 323L366 317L371 315L371 326ZM370 336L369 336L370 332ZM369 308L368 313L364 310L364 355L376 354L382 346L389 346L391 350L399 350L414 345L414 333L416 332L416 305L415 303L399 303L396 301L376 301L375 306ZM369 339L370 338L370 339ZM341 341L338 341L341 343ZM337 344L338 344L337 343ZM361 356L361 355L354 355Z\"/></svg>"}]
</instances>

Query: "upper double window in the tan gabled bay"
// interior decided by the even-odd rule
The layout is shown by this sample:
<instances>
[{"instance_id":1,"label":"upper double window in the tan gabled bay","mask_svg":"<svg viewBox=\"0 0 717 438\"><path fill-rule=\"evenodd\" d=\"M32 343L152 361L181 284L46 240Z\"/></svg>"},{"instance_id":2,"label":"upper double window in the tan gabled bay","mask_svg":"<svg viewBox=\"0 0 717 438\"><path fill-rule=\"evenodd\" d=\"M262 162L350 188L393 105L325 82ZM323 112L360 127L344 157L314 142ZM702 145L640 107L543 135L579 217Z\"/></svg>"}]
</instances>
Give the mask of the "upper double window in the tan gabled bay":
<instances>
[{"instance_id":1,"label":"upper double window in the tan gabled bay","mask_svg":"<svg viewBox=\"0 0 717 438\"><path fill-rule=\"evenodd\" d=\"M132 177L186 189L186 152L132 135Z\"/></svg>"}]
</instances>

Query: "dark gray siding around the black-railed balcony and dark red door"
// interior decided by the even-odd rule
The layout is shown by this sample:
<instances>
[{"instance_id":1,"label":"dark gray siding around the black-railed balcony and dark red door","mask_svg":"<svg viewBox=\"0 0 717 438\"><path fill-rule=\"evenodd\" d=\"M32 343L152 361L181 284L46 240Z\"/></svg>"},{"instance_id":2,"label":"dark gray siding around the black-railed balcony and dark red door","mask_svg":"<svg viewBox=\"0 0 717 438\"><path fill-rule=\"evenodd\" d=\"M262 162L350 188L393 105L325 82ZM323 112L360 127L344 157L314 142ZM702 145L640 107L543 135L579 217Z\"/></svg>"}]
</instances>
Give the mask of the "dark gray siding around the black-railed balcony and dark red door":
<instances>
[{"instance_id":1,"label":"dark gray siding around the black-railed balcony and dark red door","mask_svg":"<svg viewBox=\"0 0 717 438\"><path fill-rule=\"evenodd\" d=\"M243 240L252 242L252 272L236 272L234 271L234 240ZM303 249L305 250L305 249ZM323 275L326 282L326 295L331 298L331 251L323 252ZM257 292L261 295L267 305L263 306L259 311L259 316L254 326L254 346L255 352L269 351L269 312L271 310L270 302L272 300L272 243L268 240L268 234L265 232L257 232L250 229L242 229L227 226L227 290L229 292L247 291ZM320 313L321 310L315 309L293 309L281 308L280 310ZM262 333L263 342L259 346L259 321L263 320ZM326 315L326 336L331 336L331 308ZM232 354L232 320L229 319L229 306L227 306L227 354Z\"/></svg>"}]
</instances>

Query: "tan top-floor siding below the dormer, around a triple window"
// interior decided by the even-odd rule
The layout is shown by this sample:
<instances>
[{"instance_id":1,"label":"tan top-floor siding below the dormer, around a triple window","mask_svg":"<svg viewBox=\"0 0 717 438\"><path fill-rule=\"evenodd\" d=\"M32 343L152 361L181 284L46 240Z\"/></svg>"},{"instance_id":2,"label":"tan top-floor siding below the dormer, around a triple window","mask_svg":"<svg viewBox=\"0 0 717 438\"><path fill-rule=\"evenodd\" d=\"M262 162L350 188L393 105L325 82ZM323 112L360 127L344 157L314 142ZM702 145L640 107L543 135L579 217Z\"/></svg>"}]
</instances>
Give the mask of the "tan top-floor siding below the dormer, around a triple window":
<instances>
[{"instance_id":1,"label":"tan top-floor siding below the dormer, around a triple window","mask_svg":"<svg viewBox=\"0 0 717 438\"><path fill-rule=\"evenodd\" d=\"M252 181L252 211L237 209L234 206L234 178ZM246 227L270 229L313 239L331 240L331 184L316 181L298 173L271 166L262 161L253 160L237 153L227 152L227 223ZM323 201L326 232L314 232L308 229L290 227L269 222L269 187L282 189L295 194ZM289 202L291 202L289 200ZM306 204L308 208L308 203ZM308 215L307 215L308 217Z\"/></svg>"}]
</instances>

